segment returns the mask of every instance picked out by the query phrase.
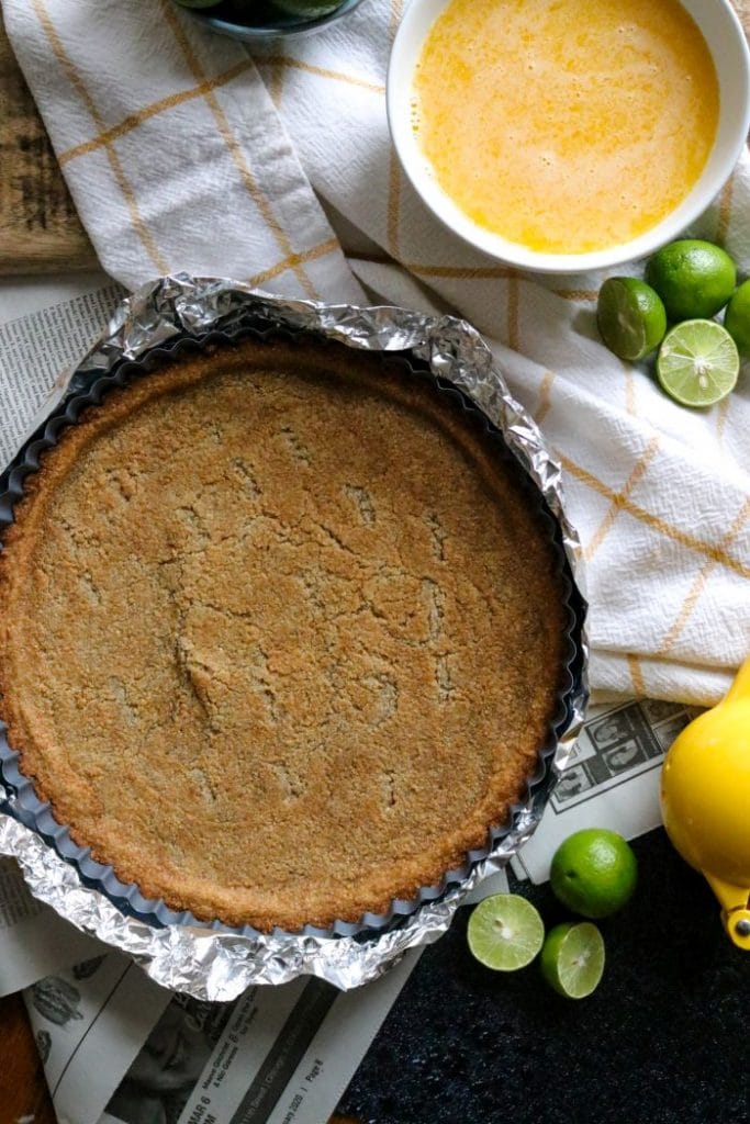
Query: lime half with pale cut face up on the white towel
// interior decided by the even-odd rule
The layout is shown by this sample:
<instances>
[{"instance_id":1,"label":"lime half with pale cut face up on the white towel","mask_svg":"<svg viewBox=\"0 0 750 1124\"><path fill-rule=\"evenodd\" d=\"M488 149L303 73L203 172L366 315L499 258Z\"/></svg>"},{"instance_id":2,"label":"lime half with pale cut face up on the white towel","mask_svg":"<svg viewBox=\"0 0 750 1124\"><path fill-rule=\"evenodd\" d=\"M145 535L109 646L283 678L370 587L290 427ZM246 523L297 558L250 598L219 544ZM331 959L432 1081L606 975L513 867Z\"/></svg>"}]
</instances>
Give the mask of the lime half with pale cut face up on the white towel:
<instances>
[{"instance_id":1,"label":"lime half with pale cut face up on the white towel","mask_svg":"<svg viewBox=\"0 0 750 1124\"><path fill-rule=\"evenodd\" d=\"M683 406L713 406L734 389L737 344L715 320L685 320L665 336L657 355L663 390Z\"/></svg>"}]
</instances>

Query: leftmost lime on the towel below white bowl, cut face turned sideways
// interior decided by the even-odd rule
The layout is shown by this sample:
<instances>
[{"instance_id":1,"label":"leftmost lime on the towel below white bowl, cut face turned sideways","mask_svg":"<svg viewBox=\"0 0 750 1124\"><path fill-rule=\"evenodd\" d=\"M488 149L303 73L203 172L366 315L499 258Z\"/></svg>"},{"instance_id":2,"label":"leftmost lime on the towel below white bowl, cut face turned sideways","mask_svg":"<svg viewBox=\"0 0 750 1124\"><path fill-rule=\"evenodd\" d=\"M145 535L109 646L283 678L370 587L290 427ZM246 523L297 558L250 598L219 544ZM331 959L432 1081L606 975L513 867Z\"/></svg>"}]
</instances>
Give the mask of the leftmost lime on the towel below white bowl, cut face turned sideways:
<instances>
[{"instance_id":1,"label":"leftmost lime on the towel below white bowl, cut face turned sideways","mask_svg":"<svg viewBox=\"0 0 750 1124\"><path fill-rule=\"evenodd\" d=\"M599 289L596 323L609 351L631 363L658 347L667 330L661 297L638 278L609 278Z\"/></svg>"}]
</instances>

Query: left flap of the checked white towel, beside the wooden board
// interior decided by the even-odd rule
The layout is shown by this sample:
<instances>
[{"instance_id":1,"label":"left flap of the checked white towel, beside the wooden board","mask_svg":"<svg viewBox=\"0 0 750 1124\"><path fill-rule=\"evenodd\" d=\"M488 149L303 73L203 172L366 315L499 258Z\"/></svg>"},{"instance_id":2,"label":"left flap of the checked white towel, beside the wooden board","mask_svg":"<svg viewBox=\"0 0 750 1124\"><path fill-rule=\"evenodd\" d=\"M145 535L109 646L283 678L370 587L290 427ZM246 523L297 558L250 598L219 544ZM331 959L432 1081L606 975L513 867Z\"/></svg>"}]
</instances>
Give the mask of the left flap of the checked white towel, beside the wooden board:
<instances>
[{"instance_id":1,"label":"left flap of the checked white towel, beside the wooden board","mask_svg":"<svg viewBox=\"0 0 750 1124\"><path fill-rule=\"evenodd\" d=\"M19 0L8 35L112 277L362 299L244 47L159 0Z\"/></svg>"}]
</instances>

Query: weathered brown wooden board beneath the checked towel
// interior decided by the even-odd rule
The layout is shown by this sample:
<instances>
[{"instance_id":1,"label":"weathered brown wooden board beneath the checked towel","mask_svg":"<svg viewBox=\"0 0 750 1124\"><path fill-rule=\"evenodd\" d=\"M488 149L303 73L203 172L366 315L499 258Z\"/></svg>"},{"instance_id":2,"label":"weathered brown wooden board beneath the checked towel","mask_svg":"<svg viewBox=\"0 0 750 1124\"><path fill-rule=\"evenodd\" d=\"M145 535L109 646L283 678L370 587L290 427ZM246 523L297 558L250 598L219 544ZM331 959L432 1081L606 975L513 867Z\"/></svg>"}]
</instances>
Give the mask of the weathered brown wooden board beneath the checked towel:
<instances>
[{"instance_id":1,"label":"weathered brown wooden board beneath the checked towel","mask_svg":"<svg viewBox=\"0 0 750 1124\"><path fill-rule=\"evenodd\" d=\"M733 0L750 34L750 0ZM0 274L97 265L0 15Z\"/></svg>"}]
</instances>

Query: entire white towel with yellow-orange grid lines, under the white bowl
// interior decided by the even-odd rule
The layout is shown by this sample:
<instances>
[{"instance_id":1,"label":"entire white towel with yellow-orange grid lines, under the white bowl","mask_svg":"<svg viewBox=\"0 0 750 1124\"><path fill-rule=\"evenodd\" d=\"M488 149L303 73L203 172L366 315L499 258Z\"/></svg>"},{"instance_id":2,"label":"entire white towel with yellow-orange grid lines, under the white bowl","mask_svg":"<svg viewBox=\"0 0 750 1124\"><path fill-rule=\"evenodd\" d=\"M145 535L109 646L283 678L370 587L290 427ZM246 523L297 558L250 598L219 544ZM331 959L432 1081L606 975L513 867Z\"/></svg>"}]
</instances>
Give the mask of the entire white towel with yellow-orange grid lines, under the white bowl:
<instances>
[{"instance_id":1,"label":"entire white towel with yellow-orange grid lines, under the white bowl","mask_svg":"<svg viewBox=\"0 0 750 1124\"><path fill-rule=\"evenodd\" d=\"M594 688L720 697L750 650L750 372L717 407L683 409L599 342L602 277L521 274L432 219L386 124L400 0L364 0L255 65L170 0L3 0L3 11L112 275L134 285L188 269L361 300L353 269L388 301L472 320L564 469ZM310 184L374 254L346 262ZM744 272L749 205L746 158L695 227Z\"/></svg>"}]
</instances>

